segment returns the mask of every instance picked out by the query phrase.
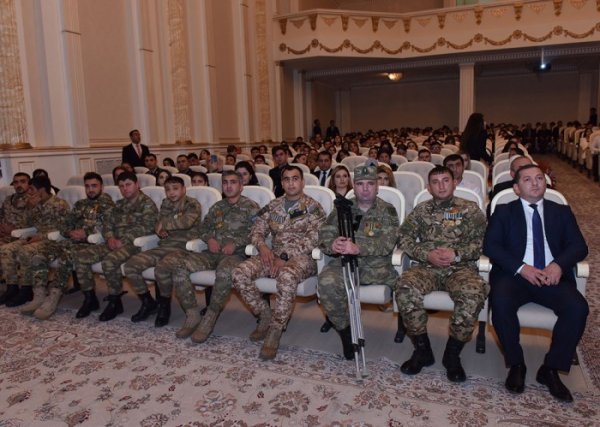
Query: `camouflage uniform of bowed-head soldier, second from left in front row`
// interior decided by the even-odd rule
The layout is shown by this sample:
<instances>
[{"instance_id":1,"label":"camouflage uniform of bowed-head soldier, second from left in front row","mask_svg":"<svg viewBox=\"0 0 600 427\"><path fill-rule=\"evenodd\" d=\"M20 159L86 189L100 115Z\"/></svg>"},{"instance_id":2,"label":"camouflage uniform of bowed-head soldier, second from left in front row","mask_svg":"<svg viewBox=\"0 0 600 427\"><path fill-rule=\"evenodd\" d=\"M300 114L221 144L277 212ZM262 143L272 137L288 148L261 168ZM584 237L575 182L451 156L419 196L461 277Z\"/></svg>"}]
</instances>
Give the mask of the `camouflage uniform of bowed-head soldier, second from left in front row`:
<instances>
[{"instance_id":1,"label":"camouflage uniform of bowed-head soldier, second from left in front row","mask_svg":"<svg viewBox=\"0 0 600 427\"><path fill-rule=\"evenodd\" d=\"M50 196L45 202L40 202L27 211L26 225L35 227L36 235L42 239L29 244L17 240L0 247L2 271L7 284L46 286L47 265L61 255L60 245L58 242L48 240L48 233L60 230L68 213L69 204L56 196ZM36 257L36 255L38 256ZM46 274L39 274L41 268L38 267L38 264L40 263L45 263Z\"/></svg>"}]
</instances>

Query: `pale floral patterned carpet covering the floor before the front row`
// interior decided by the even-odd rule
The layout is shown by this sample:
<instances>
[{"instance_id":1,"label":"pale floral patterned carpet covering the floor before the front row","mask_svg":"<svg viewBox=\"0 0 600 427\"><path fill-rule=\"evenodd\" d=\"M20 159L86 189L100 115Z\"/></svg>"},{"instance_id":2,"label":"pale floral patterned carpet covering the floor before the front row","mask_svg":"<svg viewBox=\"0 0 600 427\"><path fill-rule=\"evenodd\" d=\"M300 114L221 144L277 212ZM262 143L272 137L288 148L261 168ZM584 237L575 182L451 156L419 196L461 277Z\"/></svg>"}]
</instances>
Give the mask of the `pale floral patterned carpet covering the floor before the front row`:
<instances>
[{"instance_id":1,"label":"pale floral patterned carpet covering the floor before the front row","mask_svg":"<svg viewBox=\"0 0 600 427\"><path fill-rule=\"evenodd\" d=\"M600 265L600 187L551 161L590 244L590 264ZM580 354L598 387L597 282L592 273ZM560 404L543 386L528 384L515 396L496 379L470 375L454 385L439 371L410 378L387 359L370 361L370 376L359 384L352 363L321 351L283 347L264 363L246 339L213 337L194 346L176 340L174 327L72 319L65 309L46 322L0 310L0 426L600 425L593 390Z\"/></svg>"}]
</instances>

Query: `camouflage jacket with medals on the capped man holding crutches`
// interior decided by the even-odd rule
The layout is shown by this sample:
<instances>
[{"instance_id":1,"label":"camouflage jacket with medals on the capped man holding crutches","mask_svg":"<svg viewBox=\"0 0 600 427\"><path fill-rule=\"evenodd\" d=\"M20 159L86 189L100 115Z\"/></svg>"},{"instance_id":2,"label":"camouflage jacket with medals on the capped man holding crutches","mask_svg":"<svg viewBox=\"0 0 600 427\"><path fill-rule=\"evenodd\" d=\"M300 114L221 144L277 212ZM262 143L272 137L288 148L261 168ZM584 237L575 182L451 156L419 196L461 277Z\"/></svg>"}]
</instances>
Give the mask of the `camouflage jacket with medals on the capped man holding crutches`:
<instances>
[{"instance_id":1,"label":"camouflage jacket with medals on the capped man holding crutches","mask_svg":"<svg viewBox=\"0 0 600 427\"><path fill-rule=\"evenodd\" d=\"M360 248L358 266L362 284L393 285L398 278L392 266L392 252L398 237L398 213L387 202L377 198L366 212L358 208L355 199L351 199L352 218L355 223L360 218L354 240ZM319 248L325 254L333 256L331 245L340 236L337 209L334 209L319 232ZM339 256L336 262L341 265Z\"/></svg>"}]
</instances>

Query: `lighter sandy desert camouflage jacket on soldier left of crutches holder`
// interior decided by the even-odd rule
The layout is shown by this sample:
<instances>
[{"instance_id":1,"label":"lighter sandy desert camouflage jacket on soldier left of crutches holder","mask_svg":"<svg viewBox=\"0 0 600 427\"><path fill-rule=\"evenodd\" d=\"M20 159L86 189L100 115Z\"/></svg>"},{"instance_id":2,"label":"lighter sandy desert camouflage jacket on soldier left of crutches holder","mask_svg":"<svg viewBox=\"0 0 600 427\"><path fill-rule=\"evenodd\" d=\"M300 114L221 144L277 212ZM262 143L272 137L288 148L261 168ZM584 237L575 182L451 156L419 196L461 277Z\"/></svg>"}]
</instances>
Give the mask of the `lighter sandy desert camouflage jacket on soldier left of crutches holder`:
<instances>
[{"instance_id":1,"label":"lighter sandy desert camouflage jacket on soldier left of crutches holder","mask_svg":"<svg viewBox=\"0 0 600 427\"><path fill-rule=\"evenodd\" d=\"M250 241L258 247L271 234L275 255L286 253L290 258L309 255L317 246L325 211L319 202L306 194L287 211L285 200L285 196L275 199L258 212Z\"/></svg>"}]
</instances>

